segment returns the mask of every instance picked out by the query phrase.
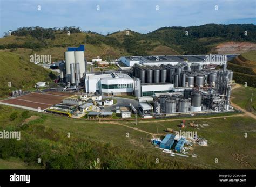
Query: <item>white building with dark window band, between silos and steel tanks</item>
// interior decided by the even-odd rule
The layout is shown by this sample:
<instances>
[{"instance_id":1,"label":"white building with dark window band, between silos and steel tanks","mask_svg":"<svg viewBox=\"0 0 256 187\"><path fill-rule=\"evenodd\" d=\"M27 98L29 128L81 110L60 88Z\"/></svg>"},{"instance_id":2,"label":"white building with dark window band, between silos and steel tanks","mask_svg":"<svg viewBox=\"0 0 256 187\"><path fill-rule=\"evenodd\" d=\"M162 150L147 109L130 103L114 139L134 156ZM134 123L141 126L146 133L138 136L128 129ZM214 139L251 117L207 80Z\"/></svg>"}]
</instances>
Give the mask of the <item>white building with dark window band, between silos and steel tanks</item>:
<instances>
[{"instance_id":1,"label":"white building with dark window band, between silos and steel tanks","mask_svg":"<svg viewBox=\"0 0 256 187\"><path fill-rule=\"evenodd\" d=\"M123 73L87 74L85 90L88 93L98 91L102 95L129 95L133 94L133 79Z\"/></svg>"}]
</instances>

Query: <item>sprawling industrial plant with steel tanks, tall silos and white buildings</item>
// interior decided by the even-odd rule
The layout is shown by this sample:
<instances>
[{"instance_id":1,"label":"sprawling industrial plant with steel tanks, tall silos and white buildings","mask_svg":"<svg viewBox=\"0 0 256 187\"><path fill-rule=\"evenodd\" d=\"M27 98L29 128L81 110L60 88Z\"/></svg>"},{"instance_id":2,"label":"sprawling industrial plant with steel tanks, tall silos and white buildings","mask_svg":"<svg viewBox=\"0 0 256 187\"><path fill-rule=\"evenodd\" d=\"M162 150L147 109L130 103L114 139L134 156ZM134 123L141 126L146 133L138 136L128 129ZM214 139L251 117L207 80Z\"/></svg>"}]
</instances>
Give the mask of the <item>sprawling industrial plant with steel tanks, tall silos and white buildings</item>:
<instances>
[{"instance_id":1,"label":"sprawling industrial plant with steel tanks, tall silos and white buildings","mask_svg":"<svg viewBox=\"0 0 256 187\"><path fill-rule=\"evenodd\" d=\"M2 104L31 105L42 111L79 118L88 112L118 113L113 107L116 104L113 97L131 95L137 98L135 104L117 105L130 112L129 117L131 113L142 118L158 118L232 111L230 95L234 81L233 72L227 69L227 60L233 56L124 56L116 64L122 63L129 70L87 72L84 52L84 45L68 47L65 60L58 63L57 93L55 89L50 92L44 89L40 94L29 93L30 96L26 96L18 90L12 92L12 98L3 100ZM36 87L41 85L46 86L44 82L39 82ZM40 98L34 98L36 96L42 98L42 102ZM48 97L56 99L49 102Z\"/></svg>"}]
</instances>

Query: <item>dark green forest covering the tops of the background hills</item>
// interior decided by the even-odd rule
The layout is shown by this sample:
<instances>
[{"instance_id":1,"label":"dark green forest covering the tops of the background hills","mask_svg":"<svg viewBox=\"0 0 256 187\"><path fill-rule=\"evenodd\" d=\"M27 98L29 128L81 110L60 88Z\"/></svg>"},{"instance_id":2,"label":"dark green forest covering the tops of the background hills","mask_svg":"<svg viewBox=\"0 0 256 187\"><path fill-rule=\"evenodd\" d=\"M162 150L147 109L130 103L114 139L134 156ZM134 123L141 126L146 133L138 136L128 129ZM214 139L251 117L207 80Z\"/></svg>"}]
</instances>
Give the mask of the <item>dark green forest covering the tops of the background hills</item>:
<instances>
[{"instance_id":1,"label":"dark green forest covering the tops of the background hills","mask_svg":"<svg viewBox=\"0 0 256 187\"><path fill-rule=\"evenodd\" d=\"M19 37L32 37L35 41L27 41L23 44L10 43L1 45L0 49L11 48L50 48L68 47L69 44L53 45L46 40L55 40L56 34L84 33L81 43L100 46L110 45L117 49L123 49L131 55L150 55L154 47L159 45L172 48L179 54L206 54L210 52L212 45L226 41L256 42L256 25L254 24L206 24L189 27L162 27L147 34L140 34L127 30L131 34L118 31L102 35L92 31L82 31L79 27L42 28L22 27L11 31L12 35ZM8 32L5 33L8 35Z\"/></svg>"}]
</instances>

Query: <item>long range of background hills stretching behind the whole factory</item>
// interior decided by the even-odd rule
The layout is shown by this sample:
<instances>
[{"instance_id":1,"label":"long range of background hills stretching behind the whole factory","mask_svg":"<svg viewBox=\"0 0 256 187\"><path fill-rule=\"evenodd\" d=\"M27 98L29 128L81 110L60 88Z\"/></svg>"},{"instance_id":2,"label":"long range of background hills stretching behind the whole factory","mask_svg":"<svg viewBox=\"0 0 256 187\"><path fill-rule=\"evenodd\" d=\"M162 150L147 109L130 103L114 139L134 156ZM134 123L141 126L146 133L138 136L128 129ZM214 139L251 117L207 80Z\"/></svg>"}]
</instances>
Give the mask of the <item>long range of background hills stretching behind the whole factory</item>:
<instances>
[{"instance_id":1,"label":"long range of background hills stretching behind the whole factory","mask_svg":"<svg viewBox=\"0 0 256 187\"><path fill-rule=\"evenodd\" d=\"M240 54L256 49L256 25L162 27L147 34L125 30L106 36L76 27L23 27L0 38L0 49L18 54L26 49L25 55L52 55L53 61L63 59L66 47L80 44L85 45L89 61L97 56L108 60L124 55Z\"/></svg>"}]
</instances>

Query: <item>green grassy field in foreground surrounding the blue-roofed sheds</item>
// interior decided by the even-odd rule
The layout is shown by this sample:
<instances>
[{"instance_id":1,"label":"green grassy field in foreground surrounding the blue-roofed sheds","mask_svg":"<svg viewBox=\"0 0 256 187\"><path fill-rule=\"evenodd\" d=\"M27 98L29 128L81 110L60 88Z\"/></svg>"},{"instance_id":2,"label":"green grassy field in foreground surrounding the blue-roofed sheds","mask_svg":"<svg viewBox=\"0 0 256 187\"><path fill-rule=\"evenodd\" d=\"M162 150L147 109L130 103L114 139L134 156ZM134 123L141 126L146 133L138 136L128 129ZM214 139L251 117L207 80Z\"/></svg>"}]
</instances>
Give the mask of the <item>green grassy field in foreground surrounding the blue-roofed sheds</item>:
<instances>
[{"instance_id":1,"label":"green grassy field in foreground surrounding the blue-roofed sheds","mask_svg":"<svg viewBox=\"0 0 256 187\"><path fill-rule=\"evenodd\" d=\"M6 115L6 113L12 114L15 112L17 112L18 116L15 120L10 120L10 116ZM0 123L1 127L4 129L14 129L17 127L17 125L21 124L24 120L24 118L22 118L23 112L24 110L21 109L1 106L0 113L2 115L0 119L3 122ZM60 155L65 155L69 144L71 144L72 147L75 145L75 147L77 147L81 142L90 142L89 144L92 150L95 149L97 152L93 153L90 151L87 154L96 154L102 159L110 159L111 163L113 160L122 160L118 165L110 168L118 168L119 166L127 169L255 169L256 167L256 149L254 143L256 138L256 121L252 118L230 117L226 119L194 120L194 123L208 124L209 126L205 128L199 127L199 130L187 126L184 131L197 131L199 136L205 137L208 140L208 146L193 146L193 153L197 154L198 157L185 158L181 156L171 157L168 154L161 153L161 150L154 148L151 143L148 142L152 138L150 133L158 132L158 135L161 136L162 134L166 134L166 132L163 131L165 128L173 128L178 131L179 128L177 125L182 118L177 121L141 120L138 122L138 125L135 125L132 124L132 121L102 121L99 123L98 121L70 119L43 113L30 112L30 114L36 114L41 118L30 121L24 126L22 130L24 136L29 135L29 139L34 140L30 142L29 139L24 138L23 141L25 142L23 143L28 143L27 141L29 141L31 146L37 145L39 146L37 149L42 149L41 146L43 145L41 145L41 143L49 142L53 148L50 148L48 152L52 152L52 154L54 152L60 152ZM191 121L192 120L186 120L186 123ZM133 129L132 127L143 130L143 132ZM71 137L68 140L65 138L67 133L70 133ZM127 137L127 133L129 133L129 138ZM244 138L245 133L248 134L248 138ZM141 138L144 139L143 144ZM77 142L77 139L79 139L80 143ZM114 154L115 156L113 156L112 153L112 156L109 155L109 152L101 153L105 149L103 147L100 148L101 145L110 145L112 147L111 150L117 149ZM79 152L84 152L82 147L78 150ZM78 152L78 150L76 149L74 151ZM45 150L44 154L46 153ZM128 153L130 157L127 155ZM4 155L6 157L6 153ZM14 157L14 155L12 155L12 157ZM48 158L48 155L46 154L44 157ZM137 159L134 159L135 157L137 157ZM155 165L153 162L153 159L156 157L160 160L159 166ZM219 163L214 162L215 158L218 158ZM26 157L24 157L25 160L22 160L23 158L20 159L21 161L25 161ZM82 158L78 156L77 159L80 160ZM93 161L93 156L89 156L88 159ZM64 162L66 163L68 161L57 162L57 166L55 167L58 168L58 166L62 166ZM29 163L31 165L31 162ZM142 165L138 166L138 163ZM45 163L46 166L48 166L47 164L48 162ZM38 167L38 164L34 163L34 165ZM34 165L32 164L32 166ZM5 166L5 168L6 167L8 166ZM44 168L43 166L41 167ZM69 168L70 166L64 165L62 167ZM12 168L11 164L10 168ZM80 168L84 167L80 166Z\"/></svg>"}]
</instances>

